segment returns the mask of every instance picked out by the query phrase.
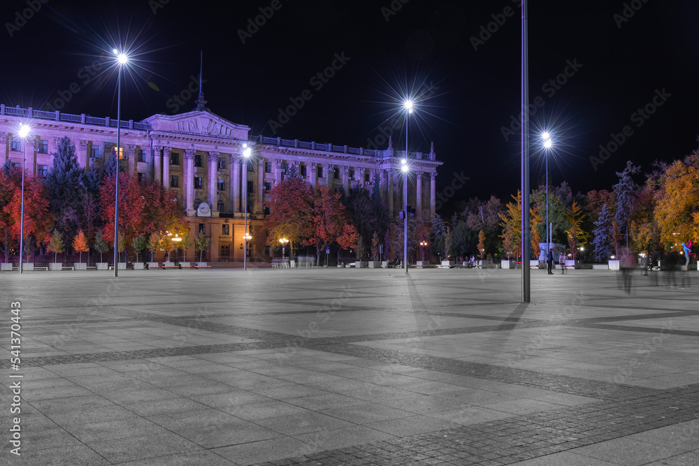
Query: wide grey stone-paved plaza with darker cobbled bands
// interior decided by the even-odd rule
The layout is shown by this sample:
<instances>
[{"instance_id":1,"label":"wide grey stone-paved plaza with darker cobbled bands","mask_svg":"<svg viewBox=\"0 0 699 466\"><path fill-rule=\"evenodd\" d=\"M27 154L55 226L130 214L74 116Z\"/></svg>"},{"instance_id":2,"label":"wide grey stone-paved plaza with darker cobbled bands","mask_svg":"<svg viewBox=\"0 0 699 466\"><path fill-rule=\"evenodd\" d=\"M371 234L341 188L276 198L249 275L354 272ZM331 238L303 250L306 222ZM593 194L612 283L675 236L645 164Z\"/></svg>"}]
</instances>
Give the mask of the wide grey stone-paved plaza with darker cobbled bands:
<instances>
[{"instance_id":1,"label":"wide grey stone-paved plaza with darker cobbled bands","mask_svg":"<svg viewBox=\"0 0 699 466\"><path fill-rule=\"evenodd\" d=\"M0 464L699 465L699 275L656 273L3 272Z\"/></svg>"}]
</instances>

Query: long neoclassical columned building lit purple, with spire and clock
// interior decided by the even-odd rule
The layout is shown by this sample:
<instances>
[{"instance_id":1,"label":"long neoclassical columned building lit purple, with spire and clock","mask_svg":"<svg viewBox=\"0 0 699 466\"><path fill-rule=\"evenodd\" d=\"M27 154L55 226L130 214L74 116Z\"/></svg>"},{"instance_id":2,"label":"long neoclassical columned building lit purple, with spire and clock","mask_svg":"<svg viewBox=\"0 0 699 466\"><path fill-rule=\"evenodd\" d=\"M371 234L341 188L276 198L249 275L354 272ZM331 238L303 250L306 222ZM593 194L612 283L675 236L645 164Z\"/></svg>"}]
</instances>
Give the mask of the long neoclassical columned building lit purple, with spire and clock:
<instances>
[{"instance_id":1,"label":"long neoclassical columned building lit purple, with spire and clock","mask_svg":"<svg viewBox=\"0 0 699 466\"><path fill-rule=\"evenodd\" d=\"M373 188L380 179L381 196L396 216L403 209L401 159L389 140L386 150L303 142L298 139L251 136L250 127L235 124L204 107L179 115L153 115L142 122L120 122L122 166L139 179L157 180L178 194L192 237L210 236L210 261L242 261L247 190L247 219L252 240L250 256L270 255L261 224L268 210L266 192L284 179L290 166L313 186ZM31 125L30 143L22 150L20 123ZM101 168L116 151L117 121L89 115L69 115L0 105L0 164L10 159L20 166L24 152L27 173L45 176L58 141L71 138L83 167ZM28 148L32 146L34 150ZM252 156L243 158L243 145ZM442 162L430 152L408 154L408 204L417 217L435 217L435 176ZM259 233L258 233L259 232ZM190 257L194 248L188 251Z\"/></svg>"}]
</instances>

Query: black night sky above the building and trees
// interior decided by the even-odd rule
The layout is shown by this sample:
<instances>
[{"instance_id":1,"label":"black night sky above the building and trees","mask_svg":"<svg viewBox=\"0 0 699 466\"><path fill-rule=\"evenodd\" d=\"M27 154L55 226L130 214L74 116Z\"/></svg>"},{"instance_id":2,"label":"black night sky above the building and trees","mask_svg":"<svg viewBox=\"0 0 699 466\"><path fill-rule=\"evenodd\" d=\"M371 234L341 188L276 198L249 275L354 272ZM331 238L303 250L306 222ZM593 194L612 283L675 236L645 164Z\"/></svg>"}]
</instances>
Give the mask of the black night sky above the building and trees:
<instances>
[{"instance_id":1,"label":"black night sky above the building and trees","mask_svg":"<svg viewBox=\"0 0 699 466\"><path fill-rule=\"evenodd\" d=\"M424 83L432 92L410 121L410 149L428 152L435 142L445 162L438 191L462 170L470 180L454 201L491 194L509 198L519 187L519 134L507 141L501 131L510 115L519 113L521 101L519 2L394 0L401 9L387 21L382 8L391 8L391 0L280 0L281 8L245 44L238 29L271 0L160 3L48 0L26 24L12 27L10 37L7 23L29 6L26 0L4 1L0 102L48 110L46 103L63 92L71 99L62 111L115 118L113 69L104 66L85 83L81 68L93 62L99 67L121 43L138 54L138 66L125 80L122 118L171 113L178 106L171 97L198 74L203 50L204 92L217 115L251 126L253 135L368 147L380 142L380 126L396 111L394 98ZM574 192L610 189L614 172L627 160L650 170L655 159L678 159L697 147L699 2L626 4L638 9L627 9L634 14L621 27L614 15L622 15L623 1L532 1L528 8L530 99L541 96L543 103L533 129L554 131L552 182L566 180ZM161 6L155 14L154 5ZM503 24L474 50L471 37L507 7L514 14L499 17ZM343 52L349 61L322 88L309 82ZM542 89L565 71L567 61L582 67L559 89ZM66 94L72 83L78 92ZM305 89L312 98L273 134L269 120ZM632 114L652 101L656 89L671 95L637 126ZM195 99L179 112L192 110ZM589 157L627 125L633 134L594 170ZM394 147L404 145L401 120ZM544 168L537 150L532 154L535 186L543 182Z\"/></svg>"}]
</instances>

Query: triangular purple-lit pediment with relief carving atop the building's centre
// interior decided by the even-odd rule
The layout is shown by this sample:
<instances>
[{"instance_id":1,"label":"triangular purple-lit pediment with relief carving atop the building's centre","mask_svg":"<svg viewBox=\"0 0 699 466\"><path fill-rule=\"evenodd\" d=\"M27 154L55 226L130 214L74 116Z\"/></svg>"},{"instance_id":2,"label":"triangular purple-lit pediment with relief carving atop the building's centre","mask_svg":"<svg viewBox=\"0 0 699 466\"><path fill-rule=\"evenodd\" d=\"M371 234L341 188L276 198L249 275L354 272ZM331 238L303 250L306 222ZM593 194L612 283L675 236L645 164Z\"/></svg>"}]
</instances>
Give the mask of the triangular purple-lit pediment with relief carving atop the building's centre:
<instances>
[{"instance_id":1,"label":"triangular purple-lit pediment with relief carving atop the building's centre","mask_svg":"<svg viewBox=\"0 0 699 466\"><path fill-rule=\"evenodd\" d=\"M144 120L154 131L200 134L202 136L247 139L250 126L231 123L207 111L194 110L180 115L153 115Z\"/></svg>"}]
</instances>

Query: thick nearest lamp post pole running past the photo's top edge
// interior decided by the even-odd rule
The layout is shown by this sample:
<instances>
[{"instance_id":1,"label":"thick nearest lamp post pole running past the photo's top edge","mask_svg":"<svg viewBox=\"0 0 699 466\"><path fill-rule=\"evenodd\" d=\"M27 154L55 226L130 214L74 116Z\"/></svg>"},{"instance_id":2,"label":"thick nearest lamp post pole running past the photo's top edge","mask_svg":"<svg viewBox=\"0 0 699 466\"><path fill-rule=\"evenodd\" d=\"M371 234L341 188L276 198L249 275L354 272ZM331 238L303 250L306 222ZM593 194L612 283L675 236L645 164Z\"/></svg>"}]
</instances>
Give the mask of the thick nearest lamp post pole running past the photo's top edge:
<instances>
[{"instance_id":1,"label":"thick nearest lamp post pole running past the photo's top edge","mask_svg":"<svg viewBox=\"0 0 699 466\"><path fill-rule=\"evenodd\" d=\"M521 138L521 190L522 190L522 303L530 302L529 270L529 75L527 42L527 0L522 0L522 138Z\"/></svg>"}]
</instances>

